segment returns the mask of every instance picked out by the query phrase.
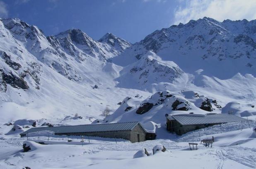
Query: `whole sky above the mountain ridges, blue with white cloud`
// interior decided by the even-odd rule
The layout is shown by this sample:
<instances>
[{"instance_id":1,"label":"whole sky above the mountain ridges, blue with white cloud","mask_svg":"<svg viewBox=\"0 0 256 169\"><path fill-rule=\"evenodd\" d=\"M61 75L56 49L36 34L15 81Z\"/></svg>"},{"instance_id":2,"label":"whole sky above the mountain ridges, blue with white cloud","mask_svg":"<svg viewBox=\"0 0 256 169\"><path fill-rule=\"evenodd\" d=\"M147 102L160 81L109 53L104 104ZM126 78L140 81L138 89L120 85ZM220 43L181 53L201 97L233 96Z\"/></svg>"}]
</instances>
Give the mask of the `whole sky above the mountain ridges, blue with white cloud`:
<instances>
[{"instance_id":1,"label":"whole sky above the mountain ridges, blue with white cloud","mask_svg":"<svg viewBox=\"0 0 256 169\"><path fill-rule=\"evenodd\" d=\"M174 23L186 23L190 19L199 19L203 16L218 20L256 19L255 0L242 2L242 0L0 0L0 17L17 17L38 26L46 35L79 28L95 40L110 32L134 43L157 29L167 28ZM239 5L238 9L235 8L237 5ZM230 6L232 9L229 9ZM235 15L241 10L242 13Z\"/></svg>"}]
</instances>

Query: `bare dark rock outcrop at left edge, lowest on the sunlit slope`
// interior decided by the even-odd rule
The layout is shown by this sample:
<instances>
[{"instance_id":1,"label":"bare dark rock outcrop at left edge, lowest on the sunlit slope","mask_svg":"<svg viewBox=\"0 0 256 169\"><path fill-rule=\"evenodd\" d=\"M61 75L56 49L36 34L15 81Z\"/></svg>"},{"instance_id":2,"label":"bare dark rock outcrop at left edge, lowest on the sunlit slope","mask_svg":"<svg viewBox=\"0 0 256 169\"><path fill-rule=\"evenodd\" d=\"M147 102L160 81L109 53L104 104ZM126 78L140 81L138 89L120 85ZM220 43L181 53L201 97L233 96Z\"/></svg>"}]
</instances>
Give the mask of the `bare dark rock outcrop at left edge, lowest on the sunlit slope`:
<instances>
[{"instance_id":1,"label":"bare dark rock outcrop at left edge, lowest on the sunlit slope","mask_svg":"<svg viewBox=\"0 0 256 169\"><path fill-rule=\"evenodd\" d=\"M7 84L11 85L14 88L21 89L29 89L27 82L22 77L17 77L16 75L10 72L9 74L5 73L4 70L0 69L0 73L2 74L2 80L4 80Z\"/></svg>"}]
</instances>

